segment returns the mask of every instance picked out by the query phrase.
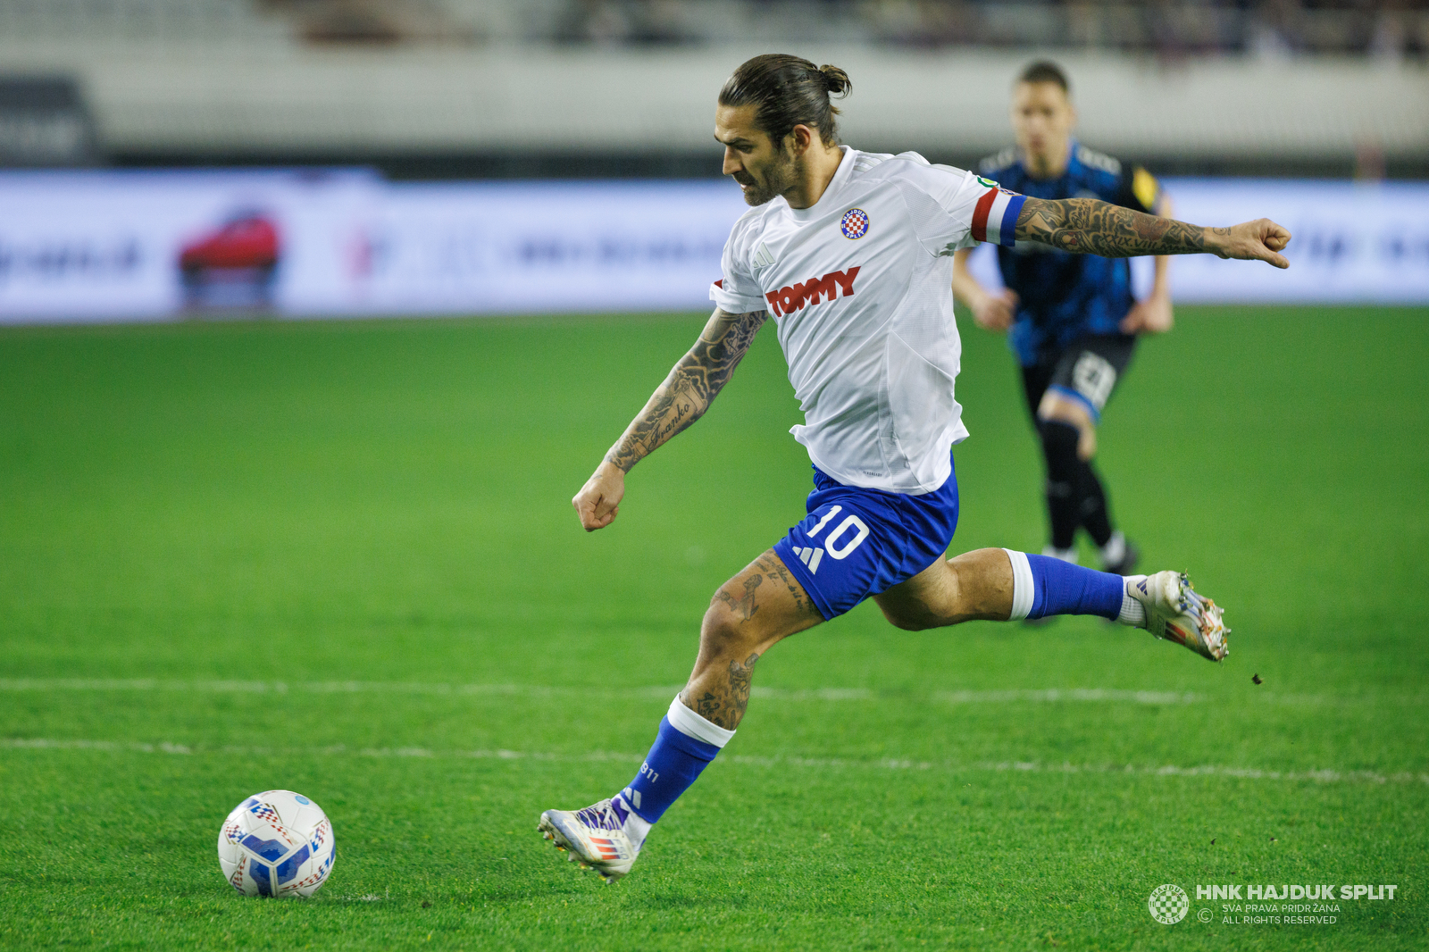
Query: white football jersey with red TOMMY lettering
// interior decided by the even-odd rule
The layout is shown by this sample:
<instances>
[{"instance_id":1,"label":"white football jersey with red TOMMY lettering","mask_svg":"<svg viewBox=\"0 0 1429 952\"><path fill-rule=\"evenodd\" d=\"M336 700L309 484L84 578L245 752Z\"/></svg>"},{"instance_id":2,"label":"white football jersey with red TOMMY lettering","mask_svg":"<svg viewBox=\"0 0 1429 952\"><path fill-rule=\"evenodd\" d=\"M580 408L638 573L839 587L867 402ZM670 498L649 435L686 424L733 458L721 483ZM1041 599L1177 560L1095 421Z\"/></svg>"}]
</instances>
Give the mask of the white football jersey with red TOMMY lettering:
<instances>
[{"instance_id":1,"label":"white football jersey with red TOMMY lettering","mask_svg":"<svg viewBox=\"0 0 1429 952\"><path fill-rule=\"evenodd\" d=\"M843 162L819 202L747 212L725 244L710 299L767 310L805 423L790 430L840 483L922 495L967 439L953 399L962 342L952 254L1013 243L1023 197L917 153Z\"/></svg>"}]
</instances>

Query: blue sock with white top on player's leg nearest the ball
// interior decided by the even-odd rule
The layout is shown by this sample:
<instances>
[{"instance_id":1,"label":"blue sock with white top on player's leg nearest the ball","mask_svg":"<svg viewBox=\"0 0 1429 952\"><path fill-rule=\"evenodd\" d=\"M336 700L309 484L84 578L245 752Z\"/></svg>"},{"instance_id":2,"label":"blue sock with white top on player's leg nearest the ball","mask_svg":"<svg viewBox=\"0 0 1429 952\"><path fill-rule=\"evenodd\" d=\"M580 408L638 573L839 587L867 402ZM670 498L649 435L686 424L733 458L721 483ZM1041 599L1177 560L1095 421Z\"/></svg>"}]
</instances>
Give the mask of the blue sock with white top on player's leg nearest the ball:
<instances>
[{"instance_id":1,"label":"blue sock with white top on player's leg nearest the ball","mask_svg":"<svg viewBox=\"0 0 1429 952\"><path fill-rule=\"evenodd\" d=\"M660 719L660 733L654 739L654 746L644 755L640 772L619 793L633 813L626 823L626 832L632 838L639 832L639 839L643 842L650 825L670 809L670 803L687 790L690 783L694 783L706 765L733 736L733 730L699 716L676 695L670 709ZM644 823L643 829L630 826L634 819Z\"/></svg>"}]
</instances>

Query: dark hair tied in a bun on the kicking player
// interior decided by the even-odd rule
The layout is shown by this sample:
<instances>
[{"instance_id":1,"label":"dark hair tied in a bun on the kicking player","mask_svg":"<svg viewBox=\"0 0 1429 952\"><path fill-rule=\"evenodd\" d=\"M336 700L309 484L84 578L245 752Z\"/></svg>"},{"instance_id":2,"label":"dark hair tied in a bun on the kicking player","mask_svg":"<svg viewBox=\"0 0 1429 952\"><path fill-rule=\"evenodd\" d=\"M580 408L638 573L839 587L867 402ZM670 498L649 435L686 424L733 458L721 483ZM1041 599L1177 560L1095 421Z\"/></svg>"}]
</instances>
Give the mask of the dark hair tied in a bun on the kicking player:
<instances>
[{"instance_id":1,"label":"dark hair tied in a bun on the kicking player","mask_svg":"<svg viewBox=\"0 0 1429 952\"><path fill-rule=\"evenodd\" d=\"M819 130L823 144L839 142L839 110L829 96L847 96L853 90L849 74L837 66L815 66L787 53L765 53L746 60L725 80L720 106L756 106L755 126L769 134L775 147L795 126Z\"/></svg>"}]
</instances>

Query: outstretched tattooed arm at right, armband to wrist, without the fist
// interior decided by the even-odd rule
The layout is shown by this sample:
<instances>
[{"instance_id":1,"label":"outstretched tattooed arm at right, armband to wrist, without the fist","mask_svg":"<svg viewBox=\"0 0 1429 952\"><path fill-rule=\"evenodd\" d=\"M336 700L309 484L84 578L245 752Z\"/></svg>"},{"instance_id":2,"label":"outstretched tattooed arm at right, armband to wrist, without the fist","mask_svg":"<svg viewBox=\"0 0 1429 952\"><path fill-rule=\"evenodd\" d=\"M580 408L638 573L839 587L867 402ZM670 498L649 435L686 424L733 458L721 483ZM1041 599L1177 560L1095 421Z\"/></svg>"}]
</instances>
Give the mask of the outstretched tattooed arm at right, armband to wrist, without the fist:
<instances>
[{"instance_id":1,"label":"outstretched tattooed arm at right, armband to wrist, without the fist","mask_svg":"<svg viewBox=\"0 0 1429 952\"><path fill-rule=\"evenodd\" d=\"M1017 214L1016 234L1019 242L1040 242L1063 252L1105 257L1209 250L1206 229L1097 199L1027 199Z\"/></svg>"}]
</instances>

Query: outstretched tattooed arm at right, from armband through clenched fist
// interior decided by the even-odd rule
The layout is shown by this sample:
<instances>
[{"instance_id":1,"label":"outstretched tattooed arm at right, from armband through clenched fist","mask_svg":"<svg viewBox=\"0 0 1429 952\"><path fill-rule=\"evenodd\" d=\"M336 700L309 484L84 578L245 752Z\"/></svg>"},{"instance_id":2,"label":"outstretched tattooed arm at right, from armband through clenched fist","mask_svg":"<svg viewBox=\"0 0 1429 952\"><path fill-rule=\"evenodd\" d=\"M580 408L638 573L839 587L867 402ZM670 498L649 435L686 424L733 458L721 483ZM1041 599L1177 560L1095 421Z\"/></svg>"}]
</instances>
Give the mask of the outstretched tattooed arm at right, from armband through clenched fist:
<instances>
[{"instance_id":1,"label":"outstretched tattooed arm at right, from armband through clenched fist","mask_svg":"<svg viewBox=\"0 0 1429 952\"><path fill-rule=\"evenodd\" d=\"M1105 257L1209 253L1290 266L1279 253L1290 233L1270 219L1203 229L1097 199L1027 199L1017 214L1016 236Z\"/></svg>"}]
</instances>

